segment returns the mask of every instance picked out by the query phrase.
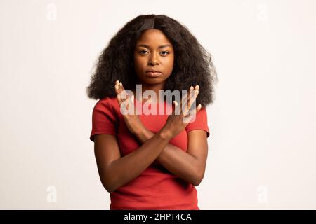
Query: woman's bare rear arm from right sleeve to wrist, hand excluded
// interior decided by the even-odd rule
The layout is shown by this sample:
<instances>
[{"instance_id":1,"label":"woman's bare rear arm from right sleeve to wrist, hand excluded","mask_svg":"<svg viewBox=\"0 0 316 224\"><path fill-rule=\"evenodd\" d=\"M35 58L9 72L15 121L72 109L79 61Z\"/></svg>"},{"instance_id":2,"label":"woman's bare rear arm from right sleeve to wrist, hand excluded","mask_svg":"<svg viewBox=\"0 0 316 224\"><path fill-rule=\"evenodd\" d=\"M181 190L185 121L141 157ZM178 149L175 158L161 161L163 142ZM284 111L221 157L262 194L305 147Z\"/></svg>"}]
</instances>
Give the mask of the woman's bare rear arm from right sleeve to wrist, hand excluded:
<instances>
[{"instance_id":1,"label":"woman's bare rear arm from right sleeve to wrist, hand excluded","mask_svg":"<svg viewBox=\"0 0 316 224\"><path fill-rule=\"evenodd\" d=\"M136 132L135 136L141 144L154 136L154 133L146 128ZM198 186L201 183L205 167L208 145L204 130L192 130L187 134L187 152L180 148L167 144L157 161L169 172L179 176L187 182Z\"/></svg>"}]
</instances>

